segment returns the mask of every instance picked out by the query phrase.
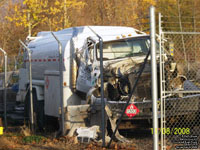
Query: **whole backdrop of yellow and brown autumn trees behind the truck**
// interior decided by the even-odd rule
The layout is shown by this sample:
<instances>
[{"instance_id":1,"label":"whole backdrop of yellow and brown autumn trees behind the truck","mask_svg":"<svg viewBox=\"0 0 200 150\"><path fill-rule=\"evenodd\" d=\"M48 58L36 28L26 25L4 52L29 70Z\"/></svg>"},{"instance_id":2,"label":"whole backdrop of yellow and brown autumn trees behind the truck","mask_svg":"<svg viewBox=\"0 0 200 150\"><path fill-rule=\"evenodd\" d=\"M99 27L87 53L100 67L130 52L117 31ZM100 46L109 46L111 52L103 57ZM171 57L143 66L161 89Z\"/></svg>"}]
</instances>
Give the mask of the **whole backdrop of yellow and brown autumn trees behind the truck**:
<instances>
[{"instance_id":1,"label":"whole backdrop of yellow and brown autumn trees behind the truck","mask_svg":"<svg viewBox=\"0 0 200 150\"><path fill-rule=\"evenodd\" d=\"M197 0L0 0L0 47L17 55L19 39L72 26L118 25L148 32L151 5L156 14L171 16L164 29L198 31Z\"/></svg>"}]
</instances>

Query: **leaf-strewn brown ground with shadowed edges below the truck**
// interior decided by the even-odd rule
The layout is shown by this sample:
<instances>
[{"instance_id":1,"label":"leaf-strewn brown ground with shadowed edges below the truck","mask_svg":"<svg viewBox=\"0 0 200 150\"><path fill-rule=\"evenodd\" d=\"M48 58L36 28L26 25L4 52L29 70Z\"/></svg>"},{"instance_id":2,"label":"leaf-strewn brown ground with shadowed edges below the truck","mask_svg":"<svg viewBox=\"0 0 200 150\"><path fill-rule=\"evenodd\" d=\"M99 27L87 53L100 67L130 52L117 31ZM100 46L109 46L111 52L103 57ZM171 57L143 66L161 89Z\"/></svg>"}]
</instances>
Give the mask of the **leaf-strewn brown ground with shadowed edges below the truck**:
<instances>
[{"instance_id":1,"label":"leaf-strewn brown ground with shadowed edges below the truck","mask_svg":"<svg viewBox=\"0 0 200 150\"><path fill-rule=\"evenodd\" d=\"M1 115L0 113L0 127L3 126ZM28 128L24 126L24 120L18 118L7 119L8 129L0 135L0 150L149 150L153 145L152 134L146 131L131 134L126 132L131 135L129 143L112 142L109 148L103 148L101 142L80 143L76 137L56 138L53 132L31 135Z\"/></svg>"}]
</instances>

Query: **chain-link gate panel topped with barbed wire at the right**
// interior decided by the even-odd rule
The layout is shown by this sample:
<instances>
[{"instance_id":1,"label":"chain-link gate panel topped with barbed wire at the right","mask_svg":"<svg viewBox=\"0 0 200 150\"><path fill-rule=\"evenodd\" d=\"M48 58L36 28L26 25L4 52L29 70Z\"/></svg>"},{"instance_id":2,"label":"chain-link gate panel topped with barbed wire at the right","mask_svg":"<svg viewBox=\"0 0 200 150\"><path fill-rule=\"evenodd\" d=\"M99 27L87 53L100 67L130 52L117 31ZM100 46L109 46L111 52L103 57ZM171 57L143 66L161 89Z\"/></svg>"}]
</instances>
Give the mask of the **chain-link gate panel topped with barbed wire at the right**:
<instances>
[{"instance_id":1,"label":"chain-link gate panel topped with barbed wire at the right","mask_svg":"<svg viewBox=\"0 0 200 150\"><path fill-rule=\"evenodd\" d=\"M200 149L200 32L190 20L159 14L161 149Z\"/></svg>"}]
</instances>

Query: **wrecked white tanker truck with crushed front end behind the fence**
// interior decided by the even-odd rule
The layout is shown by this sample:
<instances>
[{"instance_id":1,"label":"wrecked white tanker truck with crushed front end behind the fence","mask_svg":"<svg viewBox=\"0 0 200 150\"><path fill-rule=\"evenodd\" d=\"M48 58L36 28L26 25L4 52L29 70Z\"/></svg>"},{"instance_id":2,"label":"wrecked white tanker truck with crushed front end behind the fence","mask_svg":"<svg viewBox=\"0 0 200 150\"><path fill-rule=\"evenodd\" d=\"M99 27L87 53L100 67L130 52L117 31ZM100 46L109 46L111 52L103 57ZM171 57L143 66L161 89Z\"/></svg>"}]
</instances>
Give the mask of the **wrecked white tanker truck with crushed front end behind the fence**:
<instances>
[{"instance_id":1,"label":"wrecked white tanker truck with crushed front end behind the fence","mask_svg":"<svg viewBox=\"0 0 200 150\"><path fill-rule=\"evenodd\" d=\"M59 85L58 42L52 33L39 32L37 37L26 41L32 53L37 127L43 128L47 117L57 120L60 117L60 90L63 90L66 133L73 135L78 127L100 126L100 75L103 73L106 126L110 124L113 130L149 51L149 35L134 28L117 26L73 27L54 32L54 35L62 44L63 89ZM99 37L103 40L103 72L100 72ZM167 57L166 62L173 61ZM168 64L170 72L177 74L175 62ZM27 117L30 110L28 65L25 55L17 94L17 101L25 102ZM139 113L133 118L124 115L119 129L134 128L133 119L152 119L150 58L130 103L139 109Z\"/></svg>"}]
</instances>

